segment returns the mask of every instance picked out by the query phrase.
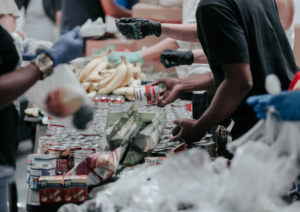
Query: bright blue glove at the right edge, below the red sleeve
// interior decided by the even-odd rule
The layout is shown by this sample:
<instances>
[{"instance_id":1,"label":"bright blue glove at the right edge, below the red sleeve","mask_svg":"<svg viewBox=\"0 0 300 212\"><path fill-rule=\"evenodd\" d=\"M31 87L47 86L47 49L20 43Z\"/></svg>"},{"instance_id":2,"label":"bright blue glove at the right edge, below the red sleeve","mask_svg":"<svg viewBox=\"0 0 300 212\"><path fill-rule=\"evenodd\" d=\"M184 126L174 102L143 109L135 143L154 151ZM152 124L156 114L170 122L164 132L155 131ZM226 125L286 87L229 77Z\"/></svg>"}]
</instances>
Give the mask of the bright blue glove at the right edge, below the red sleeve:
<instances>
[{"instance_id":1,"label":"bright blue glove at the right edge, below the red sleeve","mask_svg":"<svg viewBox=\"0 0 300 212\"><path fill-rule=\"evenodd\" d=\"M300 120L300 91L285 92L271 98L270 105L278 111L278 116L286 121Z\"/></svg>"}]
</instances>

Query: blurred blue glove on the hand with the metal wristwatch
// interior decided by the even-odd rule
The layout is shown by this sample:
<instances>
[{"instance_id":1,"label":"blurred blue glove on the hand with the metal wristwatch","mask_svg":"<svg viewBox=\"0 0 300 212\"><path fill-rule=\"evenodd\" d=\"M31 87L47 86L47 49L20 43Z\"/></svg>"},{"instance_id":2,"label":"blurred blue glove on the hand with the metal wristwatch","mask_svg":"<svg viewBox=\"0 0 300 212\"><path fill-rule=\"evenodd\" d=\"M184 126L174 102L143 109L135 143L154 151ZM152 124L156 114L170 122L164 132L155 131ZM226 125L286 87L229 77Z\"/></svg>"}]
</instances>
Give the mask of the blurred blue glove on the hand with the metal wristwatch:
<instances>
[{"instance_id":1,"label":"blurred blue glove on the hand with the metal wristwatch","mask_svg":"<svg viewBox=\"0 0 300 212\"><path fill-rule=\"evenodd\" d=\"M83 39L78 36L80 26L74 27L71 31L62 34L54 43L48 53L54 63L54 67L61 63L67 63L82 54Z\"/></svg>"}]
</instances>

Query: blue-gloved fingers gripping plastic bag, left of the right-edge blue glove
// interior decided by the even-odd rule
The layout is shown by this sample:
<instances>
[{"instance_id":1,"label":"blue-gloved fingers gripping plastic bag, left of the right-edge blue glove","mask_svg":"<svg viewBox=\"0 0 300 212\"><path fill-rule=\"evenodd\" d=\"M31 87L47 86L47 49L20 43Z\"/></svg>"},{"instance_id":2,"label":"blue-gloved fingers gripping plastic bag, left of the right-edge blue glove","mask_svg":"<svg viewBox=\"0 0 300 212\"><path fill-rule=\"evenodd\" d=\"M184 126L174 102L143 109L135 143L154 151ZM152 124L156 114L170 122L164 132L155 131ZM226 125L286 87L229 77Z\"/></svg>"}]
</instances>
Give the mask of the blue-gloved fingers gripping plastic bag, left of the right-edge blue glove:
<instances>
[{"instance_id":1,"label":"blue-gloved fingers gripping plastic bag, left of the right-edge blue glove","mask_svg":"<svg viewBox=\"0 0 300 212\"><path fill-rule=\"evenodd\" d=\"M256 112L256 118L266 118L271 97L272 96L270 94L264 94L252 96L246 100L248 106L253 106L253 110Z\"/></svg>"}]
</instances>

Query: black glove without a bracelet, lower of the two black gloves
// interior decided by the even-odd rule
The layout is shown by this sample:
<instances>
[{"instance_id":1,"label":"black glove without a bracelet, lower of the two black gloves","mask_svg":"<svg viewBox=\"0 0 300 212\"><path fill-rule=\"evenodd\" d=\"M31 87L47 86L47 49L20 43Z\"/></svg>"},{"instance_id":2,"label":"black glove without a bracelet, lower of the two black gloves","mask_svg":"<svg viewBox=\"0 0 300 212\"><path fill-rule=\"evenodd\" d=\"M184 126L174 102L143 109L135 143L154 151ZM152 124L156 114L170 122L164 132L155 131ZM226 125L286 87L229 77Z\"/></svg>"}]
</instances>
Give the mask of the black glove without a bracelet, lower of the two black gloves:
<instances>
[{"instance_id":1,"label":"black glove without a bracelet, lower of the two black gloves","mask_svg":"<svg viewBox=\"0 0 300 212\"><path fill-rule=\"evenodd\" d=\"M161 63L165 68L170 68L179 65L191 65L194 62L194 55L191 50L177 51L174 49L165 49L159 55Z\"/></svg>"}]
</instances>

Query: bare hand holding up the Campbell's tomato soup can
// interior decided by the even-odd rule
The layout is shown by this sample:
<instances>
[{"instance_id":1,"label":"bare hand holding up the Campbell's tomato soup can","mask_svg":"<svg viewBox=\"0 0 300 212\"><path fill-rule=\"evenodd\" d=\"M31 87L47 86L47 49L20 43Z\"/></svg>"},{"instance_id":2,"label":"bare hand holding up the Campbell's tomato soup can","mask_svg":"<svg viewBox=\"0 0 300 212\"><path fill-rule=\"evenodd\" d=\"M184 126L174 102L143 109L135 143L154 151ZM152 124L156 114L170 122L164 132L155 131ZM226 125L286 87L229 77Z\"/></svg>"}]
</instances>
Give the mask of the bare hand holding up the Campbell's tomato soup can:
<instances>
[{"instance_id":1,"label":"bare hand holding up the Campbell's tomato soup can","mask_svg":"<svg viewBox=\"0 0 300 212\"><path fill-rule=\"evenodd\" d=\"M158 107L164 107L175 100L177 100L184 93L182 89L182 84L178 78L158 78L155 82L152 82L152 85L158 85L160 83L165 84L165 88L160 91L160 96L158 101L155 101L155 105Z\"/></svg>"}]
</instances>

